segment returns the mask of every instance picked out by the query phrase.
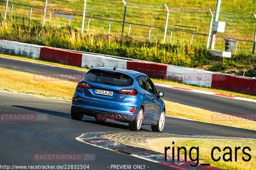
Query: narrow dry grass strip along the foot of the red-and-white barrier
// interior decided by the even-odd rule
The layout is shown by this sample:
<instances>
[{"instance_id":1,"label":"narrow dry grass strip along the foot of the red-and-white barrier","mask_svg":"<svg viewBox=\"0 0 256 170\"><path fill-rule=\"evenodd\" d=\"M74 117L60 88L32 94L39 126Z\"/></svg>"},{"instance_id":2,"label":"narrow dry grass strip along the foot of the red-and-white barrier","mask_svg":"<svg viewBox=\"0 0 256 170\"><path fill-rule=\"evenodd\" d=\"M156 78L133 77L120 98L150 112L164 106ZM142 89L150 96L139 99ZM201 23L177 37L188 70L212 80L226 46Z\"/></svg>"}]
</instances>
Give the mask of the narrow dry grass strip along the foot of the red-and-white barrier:
<instances>
[{"instance_id":1,"label":"narrow dry grass strip along the foot of the red-and-white barrier","mask_svg":"<svg viewBox=\"0 0 256 170\"><path fill-rule=\"evenodd\" d=\"M19 56L13 56L13 55L5 55L5 54L0 54L0 57L8 57L11 59L17 59L21 61L28 61L32 63L40 63L40 64L47 64L47 65L52 65L52 66L58 66L62 68L68 68L68 69L74 69L74 70L79 70L79 71L88 71L89 69L81 68L81 67L76 67L76 66L70 66L70 65L64 65L60 63L54 63L54 62L48 62L48 61L42 61L42 60L36 60L36 59L31 59L31 58L26 58L26 57L19 57ZM198 87L195 85L185 85L179 82L175 81L170 81L170 80L164 80L164 79L159 79L159 78L151 78L154 83L161 83L161 84L166 84L166 85L175 85L175 86L183 86L183 87L189 87L193 89L198 89L198 90L205 90L209 92L216 92L220 94L225 94L225 95L230 95L230 96L236 96L236 97L244 97L248 99L256 99L256 96L248 95L248 94L242 94L238 92L230 92L226 90L220 90L220 89L210 89L207 87Z\"/></svg>"}]
</instances>

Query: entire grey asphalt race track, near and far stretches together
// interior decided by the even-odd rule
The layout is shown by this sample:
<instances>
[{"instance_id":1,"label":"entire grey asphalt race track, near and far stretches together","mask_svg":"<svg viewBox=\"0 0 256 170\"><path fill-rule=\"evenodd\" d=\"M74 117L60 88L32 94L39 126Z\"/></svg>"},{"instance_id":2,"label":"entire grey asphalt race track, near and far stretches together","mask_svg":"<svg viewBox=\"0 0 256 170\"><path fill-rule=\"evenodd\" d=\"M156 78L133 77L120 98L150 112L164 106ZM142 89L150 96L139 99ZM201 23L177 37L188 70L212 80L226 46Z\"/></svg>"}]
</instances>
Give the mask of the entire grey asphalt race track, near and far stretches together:
<instances>
[{"instance_id":1,"label":"entire grey asphalt race track, near and far stretches together","mask_svg":"<svg viewBox=\"0 0 256 170\"><path fill-rule=\"evenodd\" d=\"M0 67L31 73L81 73L76 70L20 62L0 58ZM157 87L165 92L165 100L202 107L224 113L255 113L255 103L209 96L193 92ZM84 144L75 138L90 132L127 132L128 124L119 122L96 122L94 118L84 117L82 121L70 117L71 101L47 98L36 95L0 91L0 114L29 113L43 115L44 120L1 121L0 159L6 165L67 165L88 164L90 169L110 169L111 164L146 165L148 169L170 169L170 167L138 159L123 153L109 151ZM220 112L220 111L219 111ZM143 131L151 131L143 125ZM166 118L164 133L187 135L216 135L256 138L253 130L232 128L210 123L196 122L178 118ZM171 144L170 144L171 145ZM164 146L163 146L164 149ZM34 161L35 153L95 153L95 161ZM147 169L147 168L146 168Z\"/></svg>"}]
</instances>

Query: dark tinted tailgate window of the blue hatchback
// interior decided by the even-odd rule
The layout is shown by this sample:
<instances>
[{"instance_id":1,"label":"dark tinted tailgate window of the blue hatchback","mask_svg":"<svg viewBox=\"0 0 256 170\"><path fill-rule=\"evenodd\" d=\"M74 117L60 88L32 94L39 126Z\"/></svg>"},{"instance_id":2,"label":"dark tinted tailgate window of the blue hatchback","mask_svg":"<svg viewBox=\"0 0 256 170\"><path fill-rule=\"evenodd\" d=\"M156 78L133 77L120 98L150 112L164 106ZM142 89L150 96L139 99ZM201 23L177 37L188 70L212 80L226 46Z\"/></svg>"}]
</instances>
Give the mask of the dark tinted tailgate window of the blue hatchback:
<instances>
[{"instance_id":1,"label":"dark tinted tailgate window of the blue hatchback","mask_svg":"<svg viewBox=\"0 0 256 170\"><path fill-rule=\"evenodd\" d=\"M126 74L104 70L91 70L85 76L85 80L92 83L115 85L120 87L132 86L133 83L133 79Z\"/></svg>"}]
</instances>

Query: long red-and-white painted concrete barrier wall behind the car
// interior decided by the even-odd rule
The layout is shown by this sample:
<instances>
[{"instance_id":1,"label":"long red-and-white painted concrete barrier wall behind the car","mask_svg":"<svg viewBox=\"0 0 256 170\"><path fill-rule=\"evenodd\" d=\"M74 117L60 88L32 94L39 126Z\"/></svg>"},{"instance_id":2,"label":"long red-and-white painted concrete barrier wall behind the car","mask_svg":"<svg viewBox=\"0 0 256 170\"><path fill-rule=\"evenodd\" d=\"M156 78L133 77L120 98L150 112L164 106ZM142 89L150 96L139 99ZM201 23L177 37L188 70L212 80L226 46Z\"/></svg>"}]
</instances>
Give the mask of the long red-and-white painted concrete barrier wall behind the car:
<instances>
[{"instance_id":1,"label":"long red-and-white painted concrete barrier wall behind the car","mask_svg":"<svg viewBox=\"0 0 256 170\"><path fill-rule=\"evenodd\" d=\"M212 71L191 69L147 61L117 59L100 54L84 54L62 50L59 48L6 40L0 40L0 53L53 61L89 69L98 66L116 66L117 68L136 70L151 77L175 80L184 84L256 95L255 79L216 73Z\"/></svg>"}]
</instances>

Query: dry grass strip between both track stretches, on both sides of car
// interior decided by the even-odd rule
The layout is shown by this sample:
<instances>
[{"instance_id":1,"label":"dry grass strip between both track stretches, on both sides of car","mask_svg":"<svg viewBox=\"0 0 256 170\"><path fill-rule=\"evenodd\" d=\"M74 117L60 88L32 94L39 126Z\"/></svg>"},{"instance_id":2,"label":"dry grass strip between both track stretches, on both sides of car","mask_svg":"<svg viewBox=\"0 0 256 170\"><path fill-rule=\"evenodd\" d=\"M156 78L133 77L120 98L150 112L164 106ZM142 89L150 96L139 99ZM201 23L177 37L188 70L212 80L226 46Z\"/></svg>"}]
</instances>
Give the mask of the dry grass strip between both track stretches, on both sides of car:
<instances>
[{"instance_id":1,"label":"dry grass strip between both track stretches, on both sides of car","mask_svg":"<svg viewBox=\"0 0 256 170\"><path fill-rule=\"evenodd\" d=\"M0 80L1 90L37 94L47 97L56 97L69 100L71 100L77 85L76 82L70 82L66 80L38 81L31 73L25 73L4 68L0 68ZM167 115L180 116L200 122L256 130L256 122L254 121L244 119L242 119L242 121L214 121L212 120L211 115L219 113L207 111L201 108L185 106L171 101L164 102L166 105ZM233 116L230 116L230 119L236 120ZM244 123L245 121L246 123Z\"/></svg>"}]
</instances>

